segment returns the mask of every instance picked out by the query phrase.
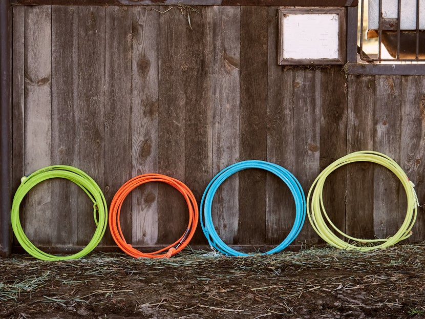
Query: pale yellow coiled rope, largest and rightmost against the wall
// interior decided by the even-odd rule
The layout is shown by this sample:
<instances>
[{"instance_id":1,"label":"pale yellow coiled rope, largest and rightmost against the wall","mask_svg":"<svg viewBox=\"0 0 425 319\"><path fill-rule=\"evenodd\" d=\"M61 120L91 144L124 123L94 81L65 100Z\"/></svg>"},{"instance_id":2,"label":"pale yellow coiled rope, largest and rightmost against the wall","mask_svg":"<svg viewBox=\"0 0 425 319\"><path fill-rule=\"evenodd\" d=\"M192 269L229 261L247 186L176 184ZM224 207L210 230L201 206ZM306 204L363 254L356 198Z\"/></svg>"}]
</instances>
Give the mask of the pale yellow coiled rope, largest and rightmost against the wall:
<instances>
[{"instance_id":1,"label":"pale yellow coiled rope, largest and rightmost against the wall","mask_svg":"<svg viewBox=\"0 0 425 319\"><path fill-rule=\"evenodd\" d=\"M335 169L353 162L373 162L384 167L387 167L391 172L393 172L401 184L406 190L407 196L407 211L406 218L403 221L400 229L395 233L395 235L387 239L358 239L346 235L344 232L339 230L329 219L326 214L326 210L323 204L323 186L325 184L326 178L331 174ZM398 243L401 240L407 239L412 233L411 229L416 220L417 215L417 206L419 206L416 192L414 189L414 184L406 176L405 172L401 167L390 157L373 151L361 151L348 154L330 164L324 169L324 171L317 176L307 195L307 216L310 220L310 223L317 234L325 240L330 245L341 248L341 249L358 249L358 250L372 250L376 248L386 248L391 245ZM326 221L325 221L326 219ZM342 239L338 238L335 233L328 227L327 223L339 234L345 238L353 241L353 243L347 243ZM358 246L358 244L364 243L373 243L373 242L382 242L379 245L375 246Z\"/></svg>"}]
</instances>

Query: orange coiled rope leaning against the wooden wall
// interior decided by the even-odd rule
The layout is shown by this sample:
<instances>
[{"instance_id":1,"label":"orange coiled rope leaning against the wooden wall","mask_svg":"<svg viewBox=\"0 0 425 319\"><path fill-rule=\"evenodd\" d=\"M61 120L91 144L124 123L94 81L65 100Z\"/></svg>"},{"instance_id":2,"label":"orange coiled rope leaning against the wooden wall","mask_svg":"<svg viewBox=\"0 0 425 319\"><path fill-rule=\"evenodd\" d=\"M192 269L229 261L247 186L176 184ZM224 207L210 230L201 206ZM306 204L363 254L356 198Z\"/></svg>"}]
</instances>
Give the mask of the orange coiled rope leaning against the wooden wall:
<instances>
[{"instance_id":1,"label":"orange coiled rope leaning against the wooden wall","mask_svg":"<svg viewBox=\"0 0 425 319\"><path fill-rule=\"evenodd\" d=\"M154 252L144 253L133 248L132 245L125 241L124 236L122 235L121 225L119 223L119 216L125 197L129 195L134 188L147 182L164 182L176 188L184 196L189 208L189 223L183 236L173 244ZM194 236L198 219L199 211L195 196L184 183L162 174L143 174L132 178L118 189L111 202L109 228L118 247L130 256L135 258L170 258L181 251L190 242ZM165 252L166 250L168 251Z\"/></svg>"}]
</instances>

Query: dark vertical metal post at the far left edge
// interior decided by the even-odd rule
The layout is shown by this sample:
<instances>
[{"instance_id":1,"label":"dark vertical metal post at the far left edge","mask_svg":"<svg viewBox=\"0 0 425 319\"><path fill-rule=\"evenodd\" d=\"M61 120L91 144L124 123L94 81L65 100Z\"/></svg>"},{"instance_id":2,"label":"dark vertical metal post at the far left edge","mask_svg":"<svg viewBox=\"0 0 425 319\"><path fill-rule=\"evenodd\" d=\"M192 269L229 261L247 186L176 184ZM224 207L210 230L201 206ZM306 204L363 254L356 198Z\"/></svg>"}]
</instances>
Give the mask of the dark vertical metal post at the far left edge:
<instances>
[{"instance_id":1,"label":"dark vertical metal post at the far left edge","mask_svg":"<svg viewBox=\"0 0 425 319\"><path fill-rule=\"evenodd\" d=\"M0 0L0 244L3 257L11 252L10 141L11 141L11 5Z\"/></svg>"}]
</instances>

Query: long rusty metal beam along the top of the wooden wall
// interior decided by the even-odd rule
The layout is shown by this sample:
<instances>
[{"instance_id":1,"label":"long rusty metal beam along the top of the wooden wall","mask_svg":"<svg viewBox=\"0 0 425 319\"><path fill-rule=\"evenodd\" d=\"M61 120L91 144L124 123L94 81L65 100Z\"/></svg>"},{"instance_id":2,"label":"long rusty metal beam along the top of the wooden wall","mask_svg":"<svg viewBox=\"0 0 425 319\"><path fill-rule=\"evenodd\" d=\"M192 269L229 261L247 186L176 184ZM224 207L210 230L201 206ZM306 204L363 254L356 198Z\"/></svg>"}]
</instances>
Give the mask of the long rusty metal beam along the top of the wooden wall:
<instances>
[{"instance_id":1,"label":"long rusty metal beam along the top of the wooden wall","mask_svg":"<svg viewBox=\"0 0 425 319\"><path fill-rule=\"evenodd\" d=\"M356 7L358 0L12 0L12 5L221 5Z\"/></svg>"}]
</instances>

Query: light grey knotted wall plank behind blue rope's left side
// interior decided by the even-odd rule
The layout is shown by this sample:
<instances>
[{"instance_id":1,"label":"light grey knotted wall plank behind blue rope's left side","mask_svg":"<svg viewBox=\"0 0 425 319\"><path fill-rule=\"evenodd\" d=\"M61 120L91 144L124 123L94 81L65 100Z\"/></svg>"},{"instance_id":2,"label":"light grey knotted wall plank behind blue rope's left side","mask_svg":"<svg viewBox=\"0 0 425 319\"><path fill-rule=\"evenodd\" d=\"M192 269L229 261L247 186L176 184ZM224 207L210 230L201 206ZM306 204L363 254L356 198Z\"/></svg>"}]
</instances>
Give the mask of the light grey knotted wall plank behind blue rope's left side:
<instances>
[{"instance_id":1,"label":"light grey knotted wall plank behind blue rope's left side","mask_svg":"<svg viewBox=\"0 0 425 319\"><path fill-rule=\"evenodd\" d=\"M213 7L213 176L239 159L241 9ZM238 244L239 179L217 189L211 208L220 238Z\"/></svg>"}]
</instances>

